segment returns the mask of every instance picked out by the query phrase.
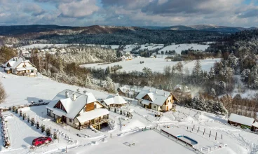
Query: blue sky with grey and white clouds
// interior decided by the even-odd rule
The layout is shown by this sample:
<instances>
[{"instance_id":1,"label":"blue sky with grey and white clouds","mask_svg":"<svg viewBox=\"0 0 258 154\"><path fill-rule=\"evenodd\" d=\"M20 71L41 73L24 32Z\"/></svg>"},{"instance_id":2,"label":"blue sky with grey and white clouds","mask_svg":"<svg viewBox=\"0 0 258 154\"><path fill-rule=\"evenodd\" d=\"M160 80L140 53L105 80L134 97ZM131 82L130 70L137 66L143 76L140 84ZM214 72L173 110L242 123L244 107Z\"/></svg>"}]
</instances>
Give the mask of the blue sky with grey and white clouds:
<instances>
[{"instance_id":1,"label":"blue sky with grey and white clouds","mask_svg":"<svg viewBox=\"0 0 258 154\"><path fill-rule=\"evenodd\" d=\"M258 27L258 0L0 0L0 25Z\"/></svg>"}]
</instances>

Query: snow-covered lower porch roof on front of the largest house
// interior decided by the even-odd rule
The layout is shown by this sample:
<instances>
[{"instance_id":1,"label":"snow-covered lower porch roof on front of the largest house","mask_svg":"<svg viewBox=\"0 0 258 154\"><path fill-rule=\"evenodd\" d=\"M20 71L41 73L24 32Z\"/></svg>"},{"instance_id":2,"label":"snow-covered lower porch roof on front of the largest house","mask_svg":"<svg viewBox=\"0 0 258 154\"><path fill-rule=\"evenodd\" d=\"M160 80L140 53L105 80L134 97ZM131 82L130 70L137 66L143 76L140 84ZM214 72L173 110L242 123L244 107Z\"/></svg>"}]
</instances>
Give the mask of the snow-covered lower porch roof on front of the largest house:
<instances>
[{"instance_id":1,"label":"snow-covered lower porch roof on front of the largest house","mask_svg":"<svg viewBox=\"0 0 258 154\"><path fill-rule=\"evenodd\" d=\"M95 109L88 112L83 112L80 114L80 116L77 117L80 123L84 123L88 120L93 120L100 116L105 116L109 114L109 111L107 109Z\"/></svg>"}]
</instances>

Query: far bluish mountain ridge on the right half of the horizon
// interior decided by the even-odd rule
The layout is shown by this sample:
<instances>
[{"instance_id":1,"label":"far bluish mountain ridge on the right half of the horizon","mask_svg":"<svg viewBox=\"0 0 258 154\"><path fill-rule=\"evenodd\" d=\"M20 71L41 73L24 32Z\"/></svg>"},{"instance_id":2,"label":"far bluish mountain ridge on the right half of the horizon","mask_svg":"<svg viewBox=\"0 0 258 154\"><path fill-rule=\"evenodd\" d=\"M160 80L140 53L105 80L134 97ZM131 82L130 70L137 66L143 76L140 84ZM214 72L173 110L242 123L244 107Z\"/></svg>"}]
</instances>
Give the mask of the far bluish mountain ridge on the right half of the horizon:
<instances>
[{"instance_id":1,"label":"far bluish mountain ridge on the right half of the horizon","mask_svg":"<svg viewBox=\"0 0 258 154\"><path fill-rule=\"evenodd\" d=\"M195 31L195 30L219 31L219 32L226 32L226 33L236 33L238 31L252 30L252 29L258 29L258 28L257 27L250 27L250 28L226 27L226 26L217 26L217 25L191 25L191 26L177 25L177 26L170 26L170 27L155 27L155 28L149 27L149 29L161 29L161 30L172 30L172 31Z\"/></svg>"}]
</instances>

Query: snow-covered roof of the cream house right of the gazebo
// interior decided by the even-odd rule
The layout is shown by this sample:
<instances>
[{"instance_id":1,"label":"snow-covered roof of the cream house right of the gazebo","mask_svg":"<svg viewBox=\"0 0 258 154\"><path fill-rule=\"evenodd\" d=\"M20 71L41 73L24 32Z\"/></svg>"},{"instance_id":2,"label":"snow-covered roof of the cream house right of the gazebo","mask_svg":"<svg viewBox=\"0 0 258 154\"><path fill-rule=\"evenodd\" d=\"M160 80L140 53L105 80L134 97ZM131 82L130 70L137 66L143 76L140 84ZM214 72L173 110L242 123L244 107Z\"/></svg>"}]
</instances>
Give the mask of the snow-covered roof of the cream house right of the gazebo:
<instances>
[{"instance_id":1,"label":"snow-covered roof of the cream house right of the gazebo","mask_svg":"<svg viewBox=\"0 0 258 154\"><path fill-rule=\"evenodd\" d=\"M154 87L145 86L142 91L137 95L136 99L142 99L145 95L148 95L151 99L151 103L158 106L162 106L170 96L171 92L158 90Z\"/></svg>"}]
</instances>

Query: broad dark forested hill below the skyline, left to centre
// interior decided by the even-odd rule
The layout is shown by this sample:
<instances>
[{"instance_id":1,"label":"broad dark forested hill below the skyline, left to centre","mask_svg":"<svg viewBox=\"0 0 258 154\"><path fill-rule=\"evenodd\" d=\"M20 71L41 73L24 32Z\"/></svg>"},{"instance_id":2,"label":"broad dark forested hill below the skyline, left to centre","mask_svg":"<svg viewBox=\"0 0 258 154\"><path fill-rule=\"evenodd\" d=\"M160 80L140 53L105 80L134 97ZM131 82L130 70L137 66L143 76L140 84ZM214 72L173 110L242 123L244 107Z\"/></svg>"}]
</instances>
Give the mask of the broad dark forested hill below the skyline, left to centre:
<instances>
[{"instance_id":1,"label":"broad dark forested hill below the skyline, left to centre","mask_svg":"<svg viewBox=\"0 0 258 154\"><path fill-rule=\"evenodd\" d=\"M226 35L217 31L171 31L140 27L59 27L55 25L0 27L0 35L18 38L19 43L144 44L217 41ZM7 39L6 39L7 40ZM9 39L10 40L10 39Z\"/></svg>"}]
</instances>

